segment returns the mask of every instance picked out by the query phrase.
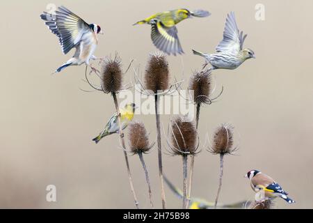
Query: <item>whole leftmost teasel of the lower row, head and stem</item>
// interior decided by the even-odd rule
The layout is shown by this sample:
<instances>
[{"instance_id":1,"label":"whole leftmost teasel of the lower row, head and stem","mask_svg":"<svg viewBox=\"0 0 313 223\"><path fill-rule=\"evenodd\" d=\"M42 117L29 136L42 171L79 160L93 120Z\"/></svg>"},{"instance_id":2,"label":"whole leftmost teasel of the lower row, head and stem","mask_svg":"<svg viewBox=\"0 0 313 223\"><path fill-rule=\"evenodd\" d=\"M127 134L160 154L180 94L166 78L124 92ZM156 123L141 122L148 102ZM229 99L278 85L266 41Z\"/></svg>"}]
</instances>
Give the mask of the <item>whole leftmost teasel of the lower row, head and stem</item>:
<instances>
[{"instance_id":1,"label":"whole leftmost teasel of the lower row, head and stem","mask_svg":"<svg viewBox=\"0 0 313 223\"><path fill-rule=\"evenodd\" d=\"M153 208L150 179L145 160L143 159L143 154L149 153L154 144L150 144L147 130L145 130L145 125L140 121L133 122L129 125L128 139L131 153L138 155L141 160L143 170L145 171L145 180L147 182L150 205Z\"/></svg>"}]
</instances>

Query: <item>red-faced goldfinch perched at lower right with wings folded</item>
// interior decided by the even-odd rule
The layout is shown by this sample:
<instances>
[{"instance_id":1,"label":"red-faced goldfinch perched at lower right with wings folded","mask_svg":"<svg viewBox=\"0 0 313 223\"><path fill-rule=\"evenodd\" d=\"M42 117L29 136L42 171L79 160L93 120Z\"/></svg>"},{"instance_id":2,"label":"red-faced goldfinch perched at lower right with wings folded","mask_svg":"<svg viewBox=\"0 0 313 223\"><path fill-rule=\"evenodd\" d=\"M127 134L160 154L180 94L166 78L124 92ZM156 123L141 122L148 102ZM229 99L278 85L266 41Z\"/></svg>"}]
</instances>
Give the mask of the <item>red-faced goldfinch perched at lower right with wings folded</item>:
<instances>
[{"instance_id":1,"label":"red-faced goldfinch perched at lower right with wings folded","mask_svg":"<svg viewBox=\"0 0 313 223\"><path fill-rule=\"evenodd\" d=\"M271 177L263 174L257 170L248 171L245 176L249 178L252 190L255 192L264 192L264 199L272 199L275 197L281 197L288 203L294 203L293 199L287 197L288 193L285 192L278 183L276 183Z\"/></svg>"}]
</instances>

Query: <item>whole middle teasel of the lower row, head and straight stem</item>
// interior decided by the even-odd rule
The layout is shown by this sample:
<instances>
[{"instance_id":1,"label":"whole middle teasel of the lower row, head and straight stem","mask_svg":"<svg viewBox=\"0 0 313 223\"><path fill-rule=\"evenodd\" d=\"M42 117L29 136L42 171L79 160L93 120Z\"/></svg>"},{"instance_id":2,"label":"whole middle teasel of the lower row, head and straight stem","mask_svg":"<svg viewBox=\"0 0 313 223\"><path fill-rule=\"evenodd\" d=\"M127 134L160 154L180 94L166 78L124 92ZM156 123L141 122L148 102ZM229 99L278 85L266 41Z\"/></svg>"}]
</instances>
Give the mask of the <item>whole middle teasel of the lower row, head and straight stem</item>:
<instances>
[{"instance_id":1,"label":"whole middle teasel of the lower row, head and straight stem","mask_svg":"<svg viewBox=\"0 0 313 223\"><path fill-rule=\"evenodd\" d=\"M187 197L187 164L188 155L198 153L199 139L195 123L188 116L176 116L172 118L169 125L170 139L168 146L172 155L182 155L183 158L183 208L188 206Z\"/></svg>"}]
</instances>

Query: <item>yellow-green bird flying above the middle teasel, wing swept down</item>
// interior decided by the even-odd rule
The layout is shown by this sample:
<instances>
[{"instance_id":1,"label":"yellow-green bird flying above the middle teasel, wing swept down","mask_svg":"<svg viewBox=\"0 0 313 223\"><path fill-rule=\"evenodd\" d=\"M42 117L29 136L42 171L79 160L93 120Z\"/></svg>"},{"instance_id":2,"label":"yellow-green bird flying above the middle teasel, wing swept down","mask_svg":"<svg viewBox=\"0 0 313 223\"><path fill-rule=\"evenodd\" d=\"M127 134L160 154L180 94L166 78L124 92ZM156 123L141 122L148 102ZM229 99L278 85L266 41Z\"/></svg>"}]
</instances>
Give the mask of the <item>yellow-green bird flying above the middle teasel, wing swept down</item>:
<instances>
[{"instance_id":1,"label":"yellow-green bird flying above the middle teasel, wing swept down","mask_svg":"<svg viewBox=\"0 0 313 223\"><path fill-rule=\"evenodd\" d=\"M150 24L152 26L151 38L155 47L166 54L176 55L183 54L184 51L179 43L175 25L190 17L207 17L209 15L210 13L205 10L191 12L182 8L154 14L135 24Z\"/></svg>"}]
</instances>

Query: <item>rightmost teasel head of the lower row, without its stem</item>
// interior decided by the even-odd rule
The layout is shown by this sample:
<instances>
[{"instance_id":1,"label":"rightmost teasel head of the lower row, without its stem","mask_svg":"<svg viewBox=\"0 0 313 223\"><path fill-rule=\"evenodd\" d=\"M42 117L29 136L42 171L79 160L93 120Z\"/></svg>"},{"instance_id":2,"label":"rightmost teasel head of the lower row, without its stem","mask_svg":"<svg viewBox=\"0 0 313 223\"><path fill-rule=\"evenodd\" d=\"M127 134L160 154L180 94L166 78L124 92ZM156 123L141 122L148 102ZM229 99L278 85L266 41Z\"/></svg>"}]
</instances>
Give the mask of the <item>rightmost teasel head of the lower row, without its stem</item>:
<instances>
[{"instance_id":1,"label":"rightmost teasel head of the lower row, without its stem","mask_svg":"<svg viewBox=\"0 0 313 223\"><path fill-rule=\"evenodd\" d=\"M216 129L209 151L213 154L230 155L236 151L234 147L234 127L223 123Z\"/></svg>"}]
</instances>

